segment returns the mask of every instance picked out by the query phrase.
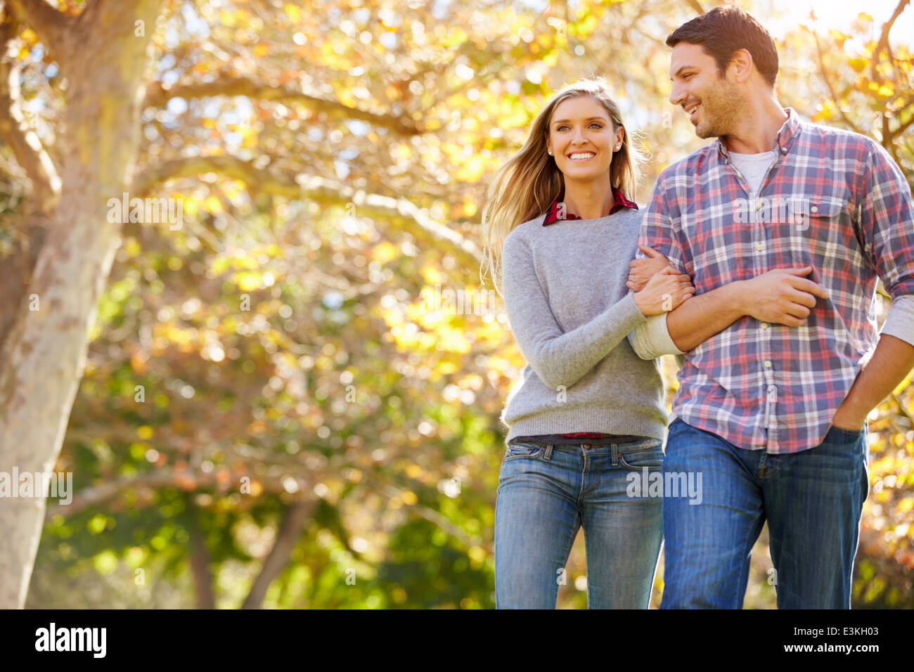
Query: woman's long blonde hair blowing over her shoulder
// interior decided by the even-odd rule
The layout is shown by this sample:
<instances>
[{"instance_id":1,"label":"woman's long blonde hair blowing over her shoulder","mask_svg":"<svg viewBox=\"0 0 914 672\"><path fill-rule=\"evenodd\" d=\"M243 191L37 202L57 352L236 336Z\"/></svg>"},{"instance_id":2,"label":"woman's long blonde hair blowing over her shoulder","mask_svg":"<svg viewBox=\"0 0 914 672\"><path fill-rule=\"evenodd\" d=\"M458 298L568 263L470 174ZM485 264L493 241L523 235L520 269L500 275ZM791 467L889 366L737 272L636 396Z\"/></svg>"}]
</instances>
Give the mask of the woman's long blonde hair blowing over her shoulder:
<instances>
[{"instance_id":1,"label":"woman's long blonde hair blowing over her shoulder","mask_svg":"<svg viewBox=\"0 0 914 672\"><path fill-rule=\"evenodd\" d=\"M499 294L502 294L502 248L505 238L518 224L537 215L545 216L549 205L565 188L565 177L555 159L547 154L546 136L552 114L559 103L579 96L591 96L606 108L613 131L625 128L619 106L612 100L610 87L602 77L586 78L567 85L537 114L530 124L524 146L495 173L483 207L484 251L480 279L484 284L488 272ZM622 147L612 155L610 164L611 186L622 189L622 194L629 198L634 197L644 160L641 150L633 144L635 138L632 134L638 135L625 129Z\"/></svg>"}]
</instances>

